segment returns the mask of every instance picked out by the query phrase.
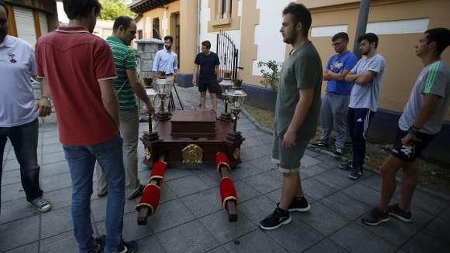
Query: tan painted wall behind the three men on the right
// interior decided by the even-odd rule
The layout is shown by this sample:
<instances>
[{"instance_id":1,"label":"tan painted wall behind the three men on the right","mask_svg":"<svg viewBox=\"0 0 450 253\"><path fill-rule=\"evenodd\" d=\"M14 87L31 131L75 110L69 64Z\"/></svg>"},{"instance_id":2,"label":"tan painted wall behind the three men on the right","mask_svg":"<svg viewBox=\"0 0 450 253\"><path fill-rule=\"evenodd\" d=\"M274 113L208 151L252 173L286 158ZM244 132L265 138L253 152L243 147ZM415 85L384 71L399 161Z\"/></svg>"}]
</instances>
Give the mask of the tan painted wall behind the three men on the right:
<instances>
[{"instance_id":1,"label":"tan painted wall behind the three men on the right","mask_svg":"<svg viewBox=\"0 0 450 253\"><path fill-rule=\"evenodd\" d=\"M423 0L403 3L382 4L372 6L369 22L430 18L429 28L449 27L447 0ZM313 26L348 24L350 36L349 48L352 50L359 8L331 12L313 13ZM313 12L313 10L312 10ZM386 59L386 69L379 98L381 108L402 111L409 98L410 91L423 65L414 53L414 45L418 34L379 35L378 53ZM328 58L334 53L330 47L331 37L311 38L316 45L325 66ZM443 54L443 60L450 65L450 50ZM323 85L325 88L325 85ZM447 114L450 119L450 113Z\"/></svg>"}]
</instances>

